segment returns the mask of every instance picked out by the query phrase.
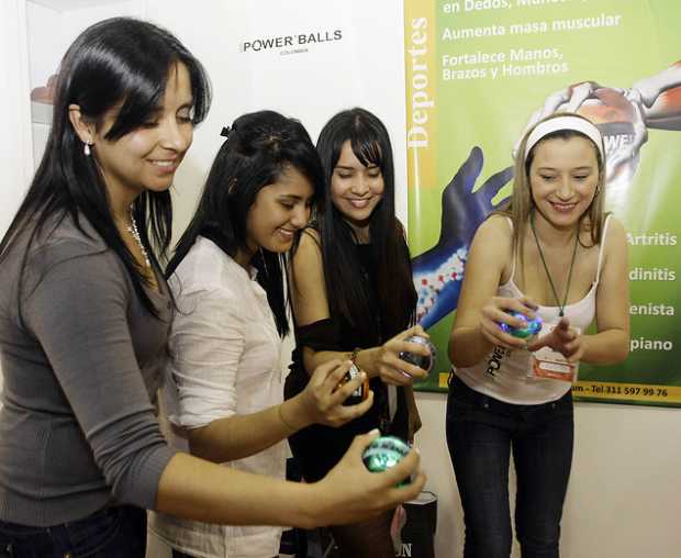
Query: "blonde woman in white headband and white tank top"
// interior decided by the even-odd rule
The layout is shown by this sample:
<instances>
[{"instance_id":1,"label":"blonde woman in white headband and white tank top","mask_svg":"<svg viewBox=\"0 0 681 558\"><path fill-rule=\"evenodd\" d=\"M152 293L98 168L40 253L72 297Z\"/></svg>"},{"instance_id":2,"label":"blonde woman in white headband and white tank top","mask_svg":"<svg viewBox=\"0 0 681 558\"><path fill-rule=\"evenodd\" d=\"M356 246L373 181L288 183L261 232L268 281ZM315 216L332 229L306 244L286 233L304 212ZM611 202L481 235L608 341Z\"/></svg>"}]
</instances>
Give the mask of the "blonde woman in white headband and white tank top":
<instances>
[{"instance_id":1,"label":"blonde woman in white headband and white tank top","mask_svg":"<svg viewBox=\"0 0 681 558\"><path fill-rule=\"evenodd\" d=\"M572 459L571 383L534 371L543 366L539 349L562 359L565 370L627 356L626 238L603 213L604 175L596 126L574 114L540 121L520 144L510 205L482 223L471 245L449 338L447 404L466 558L511 554L511 454L523 557L558 556ZM536 316L544 323L538 337L507 331ZM585 334L594 317L596 332Z\"/></svg>"}]
</instances>

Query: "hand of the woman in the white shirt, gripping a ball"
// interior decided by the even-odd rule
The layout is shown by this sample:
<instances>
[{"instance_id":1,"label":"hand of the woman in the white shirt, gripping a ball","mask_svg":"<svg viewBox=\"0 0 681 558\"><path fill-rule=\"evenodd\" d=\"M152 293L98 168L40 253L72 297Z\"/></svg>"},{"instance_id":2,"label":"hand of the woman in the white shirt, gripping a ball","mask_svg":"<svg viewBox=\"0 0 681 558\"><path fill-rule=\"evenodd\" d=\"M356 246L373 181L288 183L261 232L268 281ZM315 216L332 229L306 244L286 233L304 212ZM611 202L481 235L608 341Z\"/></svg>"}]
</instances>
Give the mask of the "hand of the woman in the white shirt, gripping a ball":
<instances>
[{"instance_id":1,"label":"hand of the woman in the white shirt, gripping a ball","mask_svg":"<svg viewBox=\"0 0 681 558\"><path fill-rule=\"evenodd\" d=\"M360 403L344 405L345 400L367 380L366 372L360 371L357 378L343 383L351 366L353 362L349 360L334 359L314 369L308 386L298 395L301 412L306 416L309 424L340 426L361 416L371 408L372 391L369 391L367 399Z\"/></svg>"}]
</instances>

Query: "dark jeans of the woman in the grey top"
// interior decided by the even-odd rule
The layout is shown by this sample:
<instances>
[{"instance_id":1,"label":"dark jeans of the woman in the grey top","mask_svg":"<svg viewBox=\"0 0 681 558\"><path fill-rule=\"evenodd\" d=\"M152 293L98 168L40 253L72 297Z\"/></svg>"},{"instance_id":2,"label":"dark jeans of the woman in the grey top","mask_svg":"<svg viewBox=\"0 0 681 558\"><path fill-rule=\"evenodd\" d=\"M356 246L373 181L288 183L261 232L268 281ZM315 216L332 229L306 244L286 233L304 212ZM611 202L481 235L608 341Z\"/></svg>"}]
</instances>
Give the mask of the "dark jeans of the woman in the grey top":
<instances>
[{"instance_id":1,"label":"dark jeans of the woman in the grey top","mask_svg":"<svg viewBox=\"0 0 681 558\"><path fill-rule=\"evenodd\" d=\"M53 527L0 521L1 558L144 558L146 511L107 507Z\"/></svg>"}]
</instances>

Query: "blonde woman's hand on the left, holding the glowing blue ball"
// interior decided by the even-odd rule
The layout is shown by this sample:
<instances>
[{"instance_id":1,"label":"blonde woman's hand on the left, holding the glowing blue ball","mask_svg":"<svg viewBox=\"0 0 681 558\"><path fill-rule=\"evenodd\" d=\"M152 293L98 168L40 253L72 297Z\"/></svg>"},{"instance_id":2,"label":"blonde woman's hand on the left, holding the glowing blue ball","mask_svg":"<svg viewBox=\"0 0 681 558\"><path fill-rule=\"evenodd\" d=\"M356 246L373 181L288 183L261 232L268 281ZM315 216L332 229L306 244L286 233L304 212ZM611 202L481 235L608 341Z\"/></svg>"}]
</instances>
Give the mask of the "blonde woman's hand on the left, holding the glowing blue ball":
<instances>
[{"instance_id":1,"label":"blonde woman's hand on the left, holding the glowing blue ball","mask_svg":"<svg viewBox=\"0 0 681 558\"><path fill-rule=\"evenodd\" d=\"M494 346L509 349L525 348L527 346L525 339L514 337L510 333L504 332L499 325L505 323L511 327L525 326L523 320L514 317L509 313L510 310L524 314L528 320L534 320L537 305L526 297L520 299L492 297L480 311L480 332Z\"/></svg>"}]
</instances>

